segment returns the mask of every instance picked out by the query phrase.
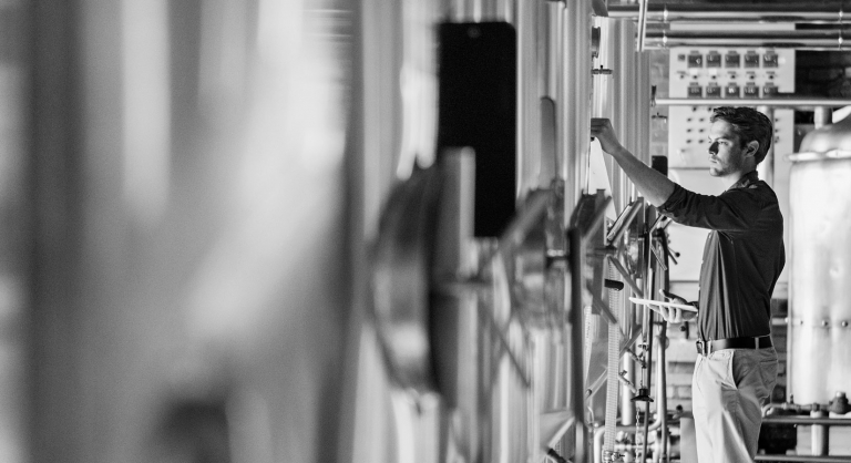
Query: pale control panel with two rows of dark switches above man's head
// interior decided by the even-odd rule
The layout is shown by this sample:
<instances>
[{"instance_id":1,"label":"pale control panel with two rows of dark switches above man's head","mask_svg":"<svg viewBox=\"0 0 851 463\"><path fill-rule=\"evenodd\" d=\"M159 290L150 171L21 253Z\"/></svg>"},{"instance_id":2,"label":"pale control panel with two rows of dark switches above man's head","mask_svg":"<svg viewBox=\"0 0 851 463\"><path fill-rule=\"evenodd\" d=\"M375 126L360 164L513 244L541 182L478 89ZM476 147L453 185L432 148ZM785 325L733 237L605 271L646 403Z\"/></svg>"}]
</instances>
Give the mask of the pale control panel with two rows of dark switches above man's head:
<instances>
[{"instance_id":1,"label":"pale control panel with two rows of dark switches above man's head","mask_svg":"<svg viewBox=\"0 0 851 463\"><path fill-rule=\"evenodd\" d=\"M673 48L670 97L759 99L794 92L794 50Z\"/></svg>"}]
</instances>

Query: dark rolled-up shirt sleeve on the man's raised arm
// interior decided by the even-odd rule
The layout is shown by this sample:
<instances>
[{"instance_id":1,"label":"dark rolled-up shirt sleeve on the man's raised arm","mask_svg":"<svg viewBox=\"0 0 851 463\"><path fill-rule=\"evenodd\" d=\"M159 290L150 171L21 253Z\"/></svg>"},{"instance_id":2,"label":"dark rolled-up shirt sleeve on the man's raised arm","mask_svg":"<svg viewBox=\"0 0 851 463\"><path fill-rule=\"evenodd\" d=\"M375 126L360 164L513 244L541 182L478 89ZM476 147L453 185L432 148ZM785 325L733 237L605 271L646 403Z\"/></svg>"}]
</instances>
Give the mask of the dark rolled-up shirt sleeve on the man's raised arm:
<instances>
[{"instance_id":1,"label":"dark rolled-up shirt sleeve on the man's raised arm","mask_svg":"<svg viewBox=\"0 0 851 463\"><path fill-rule=\"evenodd\" d=\"M719 232L753 229L760 202L751 188L736 188L720 196L700 195L679 185L674 186L659 212L678 224Z\"/></svg>"}]
</instances>

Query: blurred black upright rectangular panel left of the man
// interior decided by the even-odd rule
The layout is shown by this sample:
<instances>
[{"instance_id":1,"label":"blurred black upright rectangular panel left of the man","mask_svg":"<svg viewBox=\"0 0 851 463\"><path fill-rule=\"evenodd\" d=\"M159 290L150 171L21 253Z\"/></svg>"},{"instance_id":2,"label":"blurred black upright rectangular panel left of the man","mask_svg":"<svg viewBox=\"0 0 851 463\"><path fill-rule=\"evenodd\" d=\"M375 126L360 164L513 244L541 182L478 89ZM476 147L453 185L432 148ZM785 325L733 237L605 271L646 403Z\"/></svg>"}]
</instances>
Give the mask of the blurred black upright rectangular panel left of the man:
<instances>
[{"instance_id":1,"label":"blurred black upright rectangular panel left of the man","mask_svg":"<svg viewBox=\"0 0 851 463\"><path fill-rule=\"evenodd\" d=\"M516 34L506 22L440 25L438 152L475 150L476 237L494 237L516 196Z\"/></svg>"}]
</instances>

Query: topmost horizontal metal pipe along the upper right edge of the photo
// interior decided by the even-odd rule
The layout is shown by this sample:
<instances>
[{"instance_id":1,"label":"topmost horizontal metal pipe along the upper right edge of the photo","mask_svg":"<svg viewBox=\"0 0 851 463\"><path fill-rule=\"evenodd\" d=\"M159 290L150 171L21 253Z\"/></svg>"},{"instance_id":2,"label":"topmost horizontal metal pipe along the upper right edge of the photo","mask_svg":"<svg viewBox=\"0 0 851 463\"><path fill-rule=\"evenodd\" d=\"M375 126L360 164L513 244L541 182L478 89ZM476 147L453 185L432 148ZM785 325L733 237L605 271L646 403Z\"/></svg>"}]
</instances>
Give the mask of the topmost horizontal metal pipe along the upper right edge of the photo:
<instances>
[{"instance_id":1,"label":"topmost horizontal metal pipe along the upper right edge of the photo","mask_svg":"<svg viewBox=\"0 0 851 463\"><path fill-rule=\"evenodd\" d=\"M609 18L639 20L640 4L608 4ZM698 3L698 4L648 4L647 22L796 22L835 23L842 20L842 3Z\"/></svg>"}]
</instances>

